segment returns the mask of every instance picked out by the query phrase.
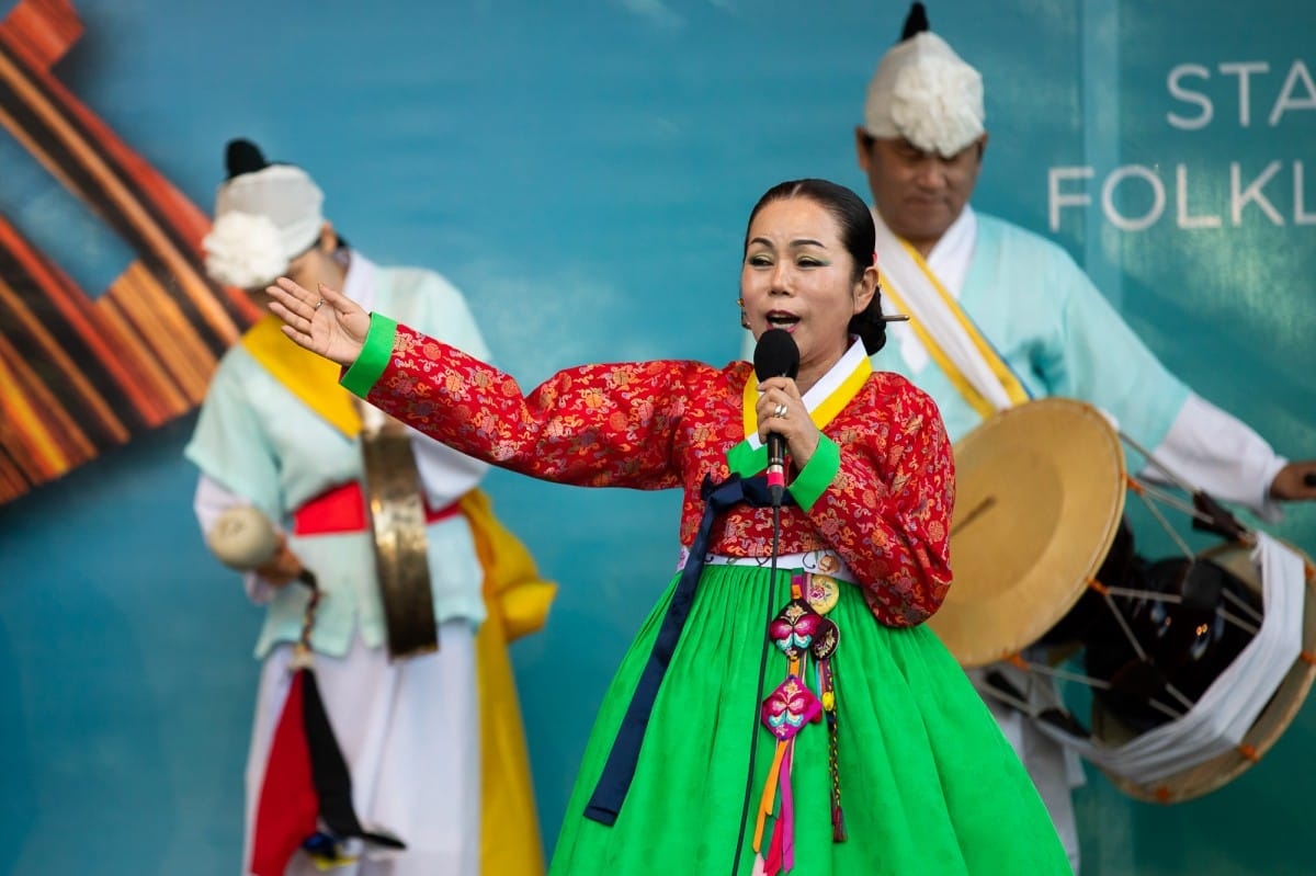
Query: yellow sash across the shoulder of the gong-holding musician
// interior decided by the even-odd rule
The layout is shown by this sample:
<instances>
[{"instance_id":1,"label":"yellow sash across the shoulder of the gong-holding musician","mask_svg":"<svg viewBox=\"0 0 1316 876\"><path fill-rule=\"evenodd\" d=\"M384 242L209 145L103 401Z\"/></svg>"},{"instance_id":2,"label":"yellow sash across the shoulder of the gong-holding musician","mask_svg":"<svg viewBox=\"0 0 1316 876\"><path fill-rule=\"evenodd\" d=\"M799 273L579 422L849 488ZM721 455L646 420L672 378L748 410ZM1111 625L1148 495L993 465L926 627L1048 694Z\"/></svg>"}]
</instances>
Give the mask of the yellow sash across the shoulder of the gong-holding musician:
<instances>
[{"instance_id":1,"label":"yellow sash across the shoulder of the gong-holding musician","mask_svg":"<svg viewBox=\"0 0 1316 876\"><path fill-rule=\"evenodd\" d=\"M280 325L272 313L263 317L242 335L242 346L301 404L347 438L355 437L361 416L351 393L338 385L338 364L288 341Z\"/></svg>"}]
</instances>

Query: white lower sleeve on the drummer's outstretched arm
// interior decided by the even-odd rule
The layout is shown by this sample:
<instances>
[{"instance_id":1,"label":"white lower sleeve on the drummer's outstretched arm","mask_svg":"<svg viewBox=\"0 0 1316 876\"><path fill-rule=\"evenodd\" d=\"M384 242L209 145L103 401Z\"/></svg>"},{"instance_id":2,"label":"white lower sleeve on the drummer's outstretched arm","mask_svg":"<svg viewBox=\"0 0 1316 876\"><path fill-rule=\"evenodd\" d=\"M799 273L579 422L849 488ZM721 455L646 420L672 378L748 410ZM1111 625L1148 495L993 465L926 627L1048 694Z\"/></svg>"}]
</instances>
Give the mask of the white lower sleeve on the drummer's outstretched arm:
<instances>
[{"instance_id":1,"label":"white lower sleeve on the drummer's outstretched arm","mask_svg":"<svg viewBox=\"0 0 1316 876\"><path fill-rule=\"evenodd\" d=\"M1152 455L1213 499L1245 505L1269 522L1283 517L1279 502L1270 497L1270 484L1288 460L1250 426L1195 392L1188 393ZM1173 483L1155 463L1144 466L1138 476Z\"/></svg>"}]
</instances>

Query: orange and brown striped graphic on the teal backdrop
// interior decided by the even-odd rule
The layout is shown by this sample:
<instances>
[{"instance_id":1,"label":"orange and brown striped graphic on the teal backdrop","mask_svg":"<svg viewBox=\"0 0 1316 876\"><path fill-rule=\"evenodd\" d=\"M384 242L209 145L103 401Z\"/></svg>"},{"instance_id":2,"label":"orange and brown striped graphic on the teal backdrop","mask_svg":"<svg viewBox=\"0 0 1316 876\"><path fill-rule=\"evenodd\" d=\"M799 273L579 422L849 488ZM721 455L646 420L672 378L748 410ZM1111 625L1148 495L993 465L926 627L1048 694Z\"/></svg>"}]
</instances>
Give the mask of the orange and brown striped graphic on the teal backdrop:
<instances>
[{"instance_id":1,"label":"orange and brown striped graphic on the teal backdrop","mask_svg":"<svg viewBox=\"0 0 1316 876\"><path fill-rule=\"evenodd\" d=\"M0 125L137 258L93 297L0 216L0 504L191 410L257 316L205 278L205 213L51 75L80 37L67 0L13 8Z\"/></svg>"}]
</instances>

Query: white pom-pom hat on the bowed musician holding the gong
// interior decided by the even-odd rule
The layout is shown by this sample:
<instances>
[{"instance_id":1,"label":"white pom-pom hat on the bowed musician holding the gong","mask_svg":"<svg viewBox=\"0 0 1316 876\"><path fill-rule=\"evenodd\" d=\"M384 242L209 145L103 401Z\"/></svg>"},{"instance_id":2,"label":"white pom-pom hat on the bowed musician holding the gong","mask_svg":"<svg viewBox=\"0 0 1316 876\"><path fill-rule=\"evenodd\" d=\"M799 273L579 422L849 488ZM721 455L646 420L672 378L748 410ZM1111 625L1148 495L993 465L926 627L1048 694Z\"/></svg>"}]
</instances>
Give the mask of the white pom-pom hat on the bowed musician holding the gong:
<instances>
[{"instance_id":1,"label":"white pom-pom hat on the bowed musician holding the gong","mask_svg":"<svg viewBox=\"0 0 1316 876\"><path fill-rule=\"evenodd\" d=\"M217 283L258 288L320 237L324 192L300 167L266 163L247 141L229 143L228 164L215 226L201 241L205 271Z\"/></svg>"}]
</instances>

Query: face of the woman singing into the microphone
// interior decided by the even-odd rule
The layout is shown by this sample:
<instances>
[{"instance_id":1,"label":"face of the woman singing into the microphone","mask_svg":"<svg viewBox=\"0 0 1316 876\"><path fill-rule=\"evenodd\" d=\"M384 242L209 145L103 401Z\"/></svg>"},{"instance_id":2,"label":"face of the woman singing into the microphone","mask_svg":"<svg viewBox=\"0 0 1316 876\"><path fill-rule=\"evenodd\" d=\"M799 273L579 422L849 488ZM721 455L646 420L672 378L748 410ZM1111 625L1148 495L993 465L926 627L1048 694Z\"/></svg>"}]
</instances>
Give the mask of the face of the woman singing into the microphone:
<instances>
[{"instance_id":1,"label":"face of the woman singing into the microphone","mask_svg":"<svg viewBox=\"0 0 1316 876\"><path fill-rule=\"evenodd\" d=\"M769 329L791 333L801 391L845 354L850 317L873 297L876 270L867 267L858 283L853 272L841 228L817 201L771 201L754 217L741 267L745 317L755 339Z\"/></svg>"}]
</instances>

